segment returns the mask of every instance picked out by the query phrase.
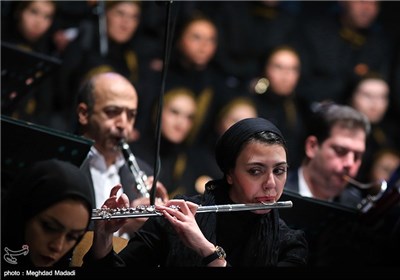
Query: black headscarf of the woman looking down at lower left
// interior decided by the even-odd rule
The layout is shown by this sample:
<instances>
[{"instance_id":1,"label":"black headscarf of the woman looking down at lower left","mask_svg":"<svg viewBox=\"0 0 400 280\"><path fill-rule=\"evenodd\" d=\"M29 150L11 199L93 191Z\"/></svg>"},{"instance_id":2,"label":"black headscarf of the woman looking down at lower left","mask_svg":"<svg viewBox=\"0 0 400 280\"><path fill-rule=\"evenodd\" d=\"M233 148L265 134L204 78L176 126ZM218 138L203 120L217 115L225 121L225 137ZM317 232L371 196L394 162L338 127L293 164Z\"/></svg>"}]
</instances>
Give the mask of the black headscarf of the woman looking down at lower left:
<instances>
[{"instance_id":1,"label":"black headscarf of the woman looking down at lower left","mask_svg":"<svg viewBox=\"0 0 400 280\"><path fill-rule=\"evenodd\" d=\"M52 205L71 198L83 201L91 217L92 188L88 177L79 167L69 162L50 159L36 162L22 170L21 176L11 185L3 200L2 247L21 249L25 244L27 222ZM87 225L89 222L90 218Z\"/></svg>"}]
</instances>

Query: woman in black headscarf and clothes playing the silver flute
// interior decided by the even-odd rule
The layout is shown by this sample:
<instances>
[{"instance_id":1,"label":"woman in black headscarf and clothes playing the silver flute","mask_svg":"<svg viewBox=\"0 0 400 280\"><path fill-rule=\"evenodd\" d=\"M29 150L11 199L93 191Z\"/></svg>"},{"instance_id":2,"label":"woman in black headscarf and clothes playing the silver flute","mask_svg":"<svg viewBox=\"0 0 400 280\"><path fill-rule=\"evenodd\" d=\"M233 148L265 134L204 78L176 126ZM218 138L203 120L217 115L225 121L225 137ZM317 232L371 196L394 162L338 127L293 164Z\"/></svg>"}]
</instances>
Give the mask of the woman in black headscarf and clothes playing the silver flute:
<instances>
[{"instance_id":1,"label":"woman in black headscarf and clothes playing the silver flute","mask_svg":"<svg viewBox=\"0 0 400 280\"><path fill-rule=\"evenodd\" d=\"M156 206L163 217L149 218L118 255L110 237L121 219L97 221L84 266L305 265L308 245L304 233L290 229L276 208L196 214L200 204L278 201L288 170L286 151L285 139L271 122L247 118L235 123L216 145L216 160L224 174L221 179L209 181L203 195ZM128 205L113 196L105 206Z\"/></svg>"}]
</instances>

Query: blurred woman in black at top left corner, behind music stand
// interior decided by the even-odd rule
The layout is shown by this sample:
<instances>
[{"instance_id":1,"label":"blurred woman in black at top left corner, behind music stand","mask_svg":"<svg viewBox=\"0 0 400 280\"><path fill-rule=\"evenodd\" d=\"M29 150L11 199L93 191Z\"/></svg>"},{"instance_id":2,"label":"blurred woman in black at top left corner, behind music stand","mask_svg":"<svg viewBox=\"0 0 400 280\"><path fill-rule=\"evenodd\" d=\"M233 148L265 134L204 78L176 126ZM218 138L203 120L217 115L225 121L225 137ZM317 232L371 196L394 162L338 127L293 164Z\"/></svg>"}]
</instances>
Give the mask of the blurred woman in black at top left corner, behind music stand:
<instances>
[{"instance_id":1,"label":"blurred woman in black at top left corner, behind music stand","mask_svg":"<svg viewBox=\"0 0 400 280\"><path fill-rule=\"evenodd\" d=\"M2 11L1 41L10 43L28 54L57 57L52 35L58 1L2 2L10 2L11 13L8 15L10 20L7 21L7 13ZM1 5L3 6L3 3ZM26 65L21 65L21 71L27 73L25 75L31 75L24 68ZM18 93L19 91L20 89L17 90ZM18 98L18 106L5 108L2 114L45 126L60 127L58 113L54 111L57 95L51 79L42 79L37 87L31 87L24 94L18 94Z\"/></svg>"}]
</instances>

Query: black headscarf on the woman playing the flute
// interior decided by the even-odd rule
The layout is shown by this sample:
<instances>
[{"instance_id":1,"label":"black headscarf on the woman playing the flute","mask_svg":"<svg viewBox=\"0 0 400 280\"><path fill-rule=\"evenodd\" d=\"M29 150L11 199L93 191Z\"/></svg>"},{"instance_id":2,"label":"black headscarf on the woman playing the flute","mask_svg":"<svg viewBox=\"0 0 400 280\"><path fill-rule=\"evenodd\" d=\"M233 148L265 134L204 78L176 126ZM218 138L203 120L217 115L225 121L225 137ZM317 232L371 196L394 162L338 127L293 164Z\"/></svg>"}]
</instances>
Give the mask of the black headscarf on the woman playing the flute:
<instances>
[{"instance_id":1,"label":"black headscarf on the woman playing the flute","mask_svg":"<svg viewBox=\"0 0 400 280\"><path fill-rule=\"evenodd\" d=\"M247 118L232 125L218 139L215 158L221 171L226 174L234 165L243 143L259 132L273 132L285 142L280 130L270 121L263 118Z\"/></svg>"}]
</instances>

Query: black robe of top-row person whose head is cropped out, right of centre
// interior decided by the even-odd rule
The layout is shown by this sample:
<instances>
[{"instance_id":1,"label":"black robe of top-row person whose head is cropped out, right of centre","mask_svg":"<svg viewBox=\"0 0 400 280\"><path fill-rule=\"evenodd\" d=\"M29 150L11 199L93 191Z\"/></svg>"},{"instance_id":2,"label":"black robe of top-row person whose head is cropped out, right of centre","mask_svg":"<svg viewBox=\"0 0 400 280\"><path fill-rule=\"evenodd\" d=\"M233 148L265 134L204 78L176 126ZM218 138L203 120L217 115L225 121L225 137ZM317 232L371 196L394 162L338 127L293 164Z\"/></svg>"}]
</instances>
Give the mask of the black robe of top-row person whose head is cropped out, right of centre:
<instances>
[{"instance_id":1,"label":"black robe of top-row person whose head is cropped out, right of centre","mask_svg":"<svg viewBox=\"0 0 400 280\"><path fill-rule=\"evenodd\" d=\"M298 19L286 4L286 1L276 6L263 1L220 4L220 10L213 15L219 38L215 60L232 88L240 91L262 71L263 61L274 47L289 43Z\"/></svg>"}]
</instances>

